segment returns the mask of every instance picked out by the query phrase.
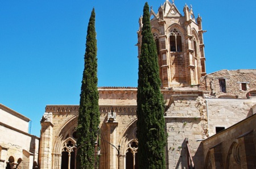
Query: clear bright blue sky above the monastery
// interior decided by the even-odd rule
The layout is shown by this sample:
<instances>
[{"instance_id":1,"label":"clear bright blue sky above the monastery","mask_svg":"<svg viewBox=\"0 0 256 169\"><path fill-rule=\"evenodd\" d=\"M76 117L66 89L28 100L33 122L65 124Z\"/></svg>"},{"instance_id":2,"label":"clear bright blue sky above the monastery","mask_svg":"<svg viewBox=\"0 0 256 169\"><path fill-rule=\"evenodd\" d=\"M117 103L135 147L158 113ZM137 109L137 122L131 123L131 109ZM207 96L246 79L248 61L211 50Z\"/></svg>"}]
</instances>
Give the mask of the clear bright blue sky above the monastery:
<instances>
[{"instance_id":1,"label":"clear bright blue sky above the monastery","mask_svg":"<svg viewBox=\"0 0 256 169\"><path fill-rule=\"evenodd\" d=\"M0 1L0 103L32 120L47 104L79 104L85 38L96 10L98 86L137 86L138 19L145 1ZM162 1L149 0L154 11ZM207 73L255 69L256 1L176 0L203 18Z\"/></svg>"}]
</instances>

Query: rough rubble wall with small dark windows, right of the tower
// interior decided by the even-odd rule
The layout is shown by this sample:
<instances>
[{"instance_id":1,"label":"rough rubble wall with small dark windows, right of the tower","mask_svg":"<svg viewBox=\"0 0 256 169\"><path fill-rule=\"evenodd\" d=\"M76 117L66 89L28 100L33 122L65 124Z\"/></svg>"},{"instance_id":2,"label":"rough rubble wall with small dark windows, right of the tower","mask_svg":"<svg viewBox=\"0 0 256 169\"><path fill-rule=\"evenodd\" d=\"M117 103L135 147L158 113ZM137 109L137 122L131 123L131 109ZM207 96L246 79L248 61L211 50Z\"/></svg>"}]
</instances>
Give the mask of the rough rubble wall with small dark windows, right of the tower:
<instances>
[{"instance_id":1,"label":"rough rubble wall with small dark windows, right of the tower","mask_svg":"<svg viewBox=\"0 0 256 169\"><path fill-rule=\"evenodd\" d=\"M226 92L220 90L220 79L225 79ZM246 90L242 90L242 83ZM200 89L215 98L245 99L249 96L248 92L254 96L256 92L252 91L256 90L256 69L220 70L207 74L200 80Z\"/></svg>"}]
</instances>

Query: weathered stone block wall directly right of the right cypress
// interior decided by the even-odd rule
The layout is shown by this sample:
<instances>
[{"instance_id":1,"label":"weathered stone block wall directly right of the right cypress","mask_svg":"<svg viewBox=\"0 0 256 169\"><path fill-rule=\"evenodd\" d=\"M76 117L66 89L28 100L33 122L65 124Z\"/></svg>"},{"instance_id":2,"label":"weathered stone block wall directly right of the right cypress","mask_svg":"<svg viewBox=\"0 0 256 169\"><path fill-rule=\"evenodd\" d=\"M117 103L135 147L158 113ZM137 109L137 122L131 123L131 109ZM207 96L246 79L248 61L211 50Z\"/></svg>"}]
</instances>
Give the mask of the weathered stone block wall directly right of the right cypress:
<instances>
[{"instance_id":1,"label":"weathered stone block wall directly right of the right cypress","mask_svg":"<svg viewBox=\"0 0 256 169\"><path fill-rule=\"evenodd\" d=\"M204 100L199 95L172 95L170 103L165 116L167 168L187 167L186 138L196 168L200 168L203 153L198 140L208 137Z\"/></svg>"}]
</instances>

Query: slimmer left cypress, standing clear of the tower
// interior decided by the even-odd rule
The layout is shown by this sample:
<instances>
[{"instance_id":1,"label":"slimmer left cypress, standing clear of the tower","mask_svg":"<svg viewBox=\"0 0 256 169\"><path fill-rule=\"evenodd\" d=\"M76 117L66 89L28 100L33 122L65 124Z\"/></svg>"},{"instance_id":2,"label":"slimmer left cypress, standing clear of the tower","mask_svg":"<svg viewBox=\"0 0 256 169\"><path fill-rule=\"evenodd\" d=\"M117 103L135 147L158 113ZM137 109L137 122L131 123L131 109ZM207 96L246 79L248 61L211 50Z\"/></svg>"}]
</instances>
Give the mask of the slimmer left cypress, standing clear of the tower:
<instances>
[{"instance_id":1,"label":"slimmer left cypress, standing clear of the tower","mask_svg":"<svg viewBox=\"0 0 256 169\"><path fill-rule=\"evenodd\" d=\"M76 166L77 168L94 168L94 160L97 160L94 159L94 142L97 140L97 127L100 124L94 8L90 15L87 29L84 61L77 126L79 138L77 140Z\"/></svg>"}]
</instances>

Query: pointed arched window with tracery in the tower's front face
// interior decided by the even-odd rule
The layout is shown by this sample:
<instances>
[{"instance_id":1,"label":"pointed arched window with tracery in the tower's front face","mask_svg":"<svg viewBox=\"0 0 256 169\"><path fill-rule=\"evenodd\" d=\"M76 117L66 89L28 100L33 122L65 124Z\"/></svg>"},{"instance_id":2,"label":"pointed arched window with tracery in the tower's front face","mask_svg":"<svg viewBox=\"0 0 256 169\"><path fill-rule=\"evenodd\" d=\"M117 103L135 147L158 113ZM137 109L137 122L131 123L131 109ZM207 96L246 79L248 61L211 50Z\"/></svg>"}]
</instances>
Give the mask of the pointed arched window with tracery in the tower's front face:
<instances>
[{"instance_id":1,"label":"pointed arched window with tracery in the tower's front face","mask_svg":"<svg viewBox=\"0 0 256 169\"><path fill-rule=\"evenodd\" d=\"M182 52L181 33L176 28L170 31L170 49L171 52Z\"/></svg>"}]
</instances>

